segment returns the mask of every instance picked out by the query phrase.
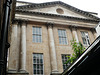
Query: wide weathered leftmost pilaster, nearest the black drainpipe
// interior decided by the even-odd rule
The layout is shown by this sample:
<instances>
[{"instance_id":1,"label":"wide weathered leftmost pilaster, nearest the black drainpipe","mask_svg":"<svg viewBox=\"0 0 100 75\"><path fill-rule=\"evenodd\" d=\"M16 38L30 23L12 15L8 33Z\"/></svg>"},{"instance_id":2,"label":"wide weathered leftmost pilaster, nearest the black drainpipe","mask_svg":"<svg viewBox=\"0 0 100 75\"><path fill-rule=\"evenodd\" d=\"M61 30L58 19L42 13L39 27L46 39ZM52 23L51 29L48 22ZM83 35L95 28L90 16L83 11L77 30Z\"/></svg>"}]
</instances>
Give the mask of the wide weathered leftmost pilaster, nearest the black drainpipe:
<instances>
[{"instance_id":1,"label":"wide weathered leftmost pilaster, nearest the black drainpipe","mask_svg":"<svg viewBox=\"0 0 100 75\"><path fill-rule=\"evenodd\" d=\"M18 70L18 23L12 25L11 33L11 44L10 44L10 54L9 54L9 69Z\"/></svg>"}]
</instances>

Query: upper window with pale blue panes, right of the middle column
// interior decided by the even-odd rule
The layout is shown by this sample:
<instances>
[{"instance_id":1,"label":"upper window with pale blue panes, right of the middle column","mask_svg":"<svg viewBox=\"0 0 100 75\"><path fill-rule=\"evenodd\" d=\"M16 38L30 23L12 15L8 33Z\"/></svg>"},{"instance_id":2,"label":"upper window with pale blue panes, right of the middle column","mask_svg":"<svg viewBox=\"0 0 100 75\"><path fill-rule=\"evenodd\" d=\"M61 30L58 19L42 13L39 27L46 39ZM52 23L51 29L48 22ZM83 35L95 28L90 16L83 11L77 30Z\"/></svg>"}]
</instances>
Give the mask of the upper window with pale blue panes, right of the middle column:
<instances>
[{"instance_id":1,"label":"upper window with pale blue panes, right of the middle column","mask_svg":"<svg viewBox=\"0 0 100 75\"><path fill-rule=\"evenodd\" d=\"M59 38L60 45L68 45L68 37L67 37L66 29L58 29L58 38Z\"/></svg>"}]
</instances>

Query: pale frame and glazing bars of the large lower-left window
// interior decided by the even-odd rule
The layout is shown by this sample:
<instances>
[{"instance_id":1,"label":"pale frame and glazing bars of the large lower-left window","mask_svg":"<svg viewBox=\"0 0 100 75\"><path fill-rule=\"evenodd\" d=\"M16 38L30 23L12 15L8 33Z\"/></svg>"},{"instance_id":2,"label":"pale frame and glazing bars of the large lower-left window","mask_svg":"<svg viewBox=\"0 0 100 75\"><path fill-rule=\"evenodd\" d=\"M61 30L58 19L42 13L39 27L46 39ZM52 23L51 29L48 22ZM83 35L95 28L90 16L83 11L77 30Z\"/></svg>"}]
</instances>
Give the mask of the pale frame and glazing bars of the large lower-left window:
<instances>
[{"instance_id":1,"label":"pale frame and glazing bars of the large lower-left window","mask_svg":"<svg viewBox=\"0 0 100 75\"><path fill-rule=\"evenodd\" d=\"M42 55L42 64L39 62L39 63L34 63L34 55ZM40 58L40 57L39 57ZM40 60L40 59L39 59ZM37 61L37 59L36 59L36 61ZM34 69L34 65L39 65L39 69ZM40 69L40 65L42 65L43 66L43 68L42 69ZM36 74L34 74L34 70L36 70ZM39 70L39 71L41 71L41 70L43 70L43 74L38 74L38 75L44 75L44 56L43 56L43 54L42 53L33 53L33 75L37 75L37 70Z\"/></svg>"}]
</instances>

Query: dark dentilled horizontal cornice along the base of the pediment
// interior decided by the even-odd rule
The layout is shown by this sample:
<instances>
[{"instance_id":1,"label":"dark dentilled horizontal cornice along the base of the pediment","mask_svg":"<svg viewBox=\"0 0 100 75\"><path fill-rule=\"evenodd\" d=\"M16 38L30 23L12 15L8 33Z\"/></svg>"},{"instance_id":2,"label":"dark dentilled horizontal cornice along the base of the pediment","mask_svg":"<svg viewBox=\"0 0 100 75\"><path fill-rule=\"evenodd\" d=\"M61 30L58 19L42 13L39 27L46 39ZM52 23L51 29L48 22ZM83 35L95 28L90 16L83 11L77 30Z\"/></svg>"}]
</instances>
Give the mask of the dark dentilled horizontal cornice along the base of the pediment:
<instances>
[{"instance_id":1,"label":"dark dentilled horizontal cornice along the base of the pediment","mask_svg":"<svg viewBox=\"0 0 100 75\"><path fill-rule=\"evenodd\" d=\"M57 17L57 18L64 18L64 19L72 19L72 20L80 20L80 21L87 21L87 22L99 22L100 20L94 20L94 19L86 19L86 18L79 18L79 17L72 17L72 16L64 16L64 15L57 15L57 14L50 14L50 13L42 13L42 12L33 12L33 11L26 11L26 10L16 10L16 14L23 14L26 15L42 15L42 16L51 16L51 17Z\"/></svg>"}]
</instances>

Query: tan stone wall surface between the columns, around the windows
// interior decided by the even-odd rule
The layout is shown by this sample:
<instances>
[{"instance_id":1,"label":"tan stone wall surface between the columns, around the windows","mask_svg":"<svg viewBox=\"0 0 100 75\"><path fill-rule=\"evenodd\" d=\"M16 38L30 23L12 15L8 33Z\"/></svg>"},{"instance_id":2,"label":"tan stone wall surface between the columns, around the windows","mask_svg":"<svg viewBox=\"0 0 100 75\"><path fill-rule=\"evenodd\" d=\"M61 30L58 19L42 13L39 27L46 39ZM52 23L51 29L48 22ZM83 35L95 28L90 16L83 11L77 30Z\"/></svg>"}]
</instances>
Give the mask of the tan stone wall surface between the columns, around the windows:
<instances>
[{"instance_id":1,"label":"tan stone wall surface between the columns, around the windows","mask_svg":"<svg viewBox=\"0 0 100 75\"><path fill-rule=\"evenodd\" d=\"M32 42L32 26L38 26L42 28L42 43L33 43ZM58 29L65 29L68 38L67 45L60 45L58 38ZM94 41L94 35L89 29L85 28L77 28L77 34L79 41L82 42L80 31L86 31L89 34L90 42ZM72 54L72 47L70 41L73 39L72 31L68 26L53 26L53 35L54 35L54 43L56 49L56 57L57 57L57 69L61 73L63 72L62 66L62 54ZM27 71L30 75L33 74L33 53L43 53L44 56L44 74L50 75L51 73L51 60L50 60L50 44L48 38L48 31L45 24L38 23L29 23L27 24Z\"/></svg>"}]
</instances>

